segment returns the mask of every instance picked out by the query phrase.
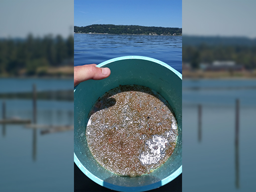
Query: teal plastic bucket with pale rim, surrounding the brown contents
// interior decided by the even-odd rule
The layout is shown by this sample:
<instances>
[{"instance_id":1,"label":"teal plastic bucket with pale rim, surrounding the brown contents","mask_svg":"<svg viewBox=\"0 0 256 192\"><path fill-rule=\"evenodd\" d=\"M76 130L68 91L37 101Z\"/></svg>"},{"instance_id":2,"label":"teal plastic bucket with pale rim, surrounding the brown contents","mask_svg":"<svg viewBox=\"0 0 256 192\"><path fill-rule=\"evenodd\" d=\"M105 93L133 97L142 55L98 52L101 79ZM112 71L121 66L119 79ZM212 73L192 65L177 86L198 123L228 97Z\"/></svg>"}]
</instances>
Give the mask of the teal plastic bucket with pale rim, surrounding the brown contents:
<instances>
[{"instance_id":1,"label":"teal plastic bucket with pale rim, surrounding the brown contents","mask_svg":"<svg viewBox=\"0 0 256 192\"><path fill-rule=\"evenodd\" d=\"M96 183L119 191L145 191L160 187L182 173L182 75L164 62L142 56L110 59L98 67L109 67L111 75L103 80L88 80L74 89L74 162ZM120 176L103 168L91 154L86 127L88 115L99 97L119 85L137 84L154 89L172 107L178 123L178 140L174 153L154 172Z\"/></svg>"}]
</instances>

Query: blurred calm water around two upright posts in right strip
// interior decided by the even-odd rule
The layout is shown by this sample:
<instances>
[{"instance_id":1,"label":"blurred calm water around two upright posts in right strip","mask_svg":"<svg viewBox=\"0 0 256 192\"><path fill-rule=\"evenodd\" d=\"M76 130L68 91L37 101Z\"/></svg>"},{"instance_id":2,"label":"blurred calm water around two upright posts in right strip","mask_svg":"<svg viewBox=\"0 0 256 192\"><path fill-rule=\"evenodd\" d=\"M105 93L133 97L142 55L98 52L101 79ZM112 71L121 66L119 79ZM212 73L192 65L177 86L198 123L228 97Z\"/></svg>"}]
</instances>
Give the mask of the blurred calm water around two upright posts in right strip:
<instances>
[{"instance_id":1,"label":"blurred calm water around two upright posts in right strip","mask_svg":"<svg viewBox=\"0 0 256 192\"><path fill-rule=\"evenodd\" d=\"M256 80L183 80L183 191L255 191L255 98Z\"/></svg>"}]
</instances>

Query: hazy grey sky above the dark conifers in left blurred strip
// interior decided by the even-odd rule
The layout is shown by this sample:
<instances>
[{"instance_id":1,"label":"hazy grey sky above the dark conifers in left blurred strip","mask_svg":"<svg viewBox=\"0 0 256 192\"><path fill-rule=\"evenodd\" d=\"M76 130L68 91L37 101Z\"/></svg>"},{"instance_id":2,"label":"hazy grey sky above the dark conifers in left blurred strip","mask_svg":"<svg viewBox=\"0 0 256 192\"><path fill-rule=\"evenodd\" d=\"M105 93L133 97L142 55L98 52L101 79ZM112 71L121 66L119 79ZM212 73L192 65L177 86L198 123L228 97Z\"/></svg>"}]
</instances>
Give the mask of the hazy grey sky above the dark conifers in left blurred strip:
<instances>
[{"instance_id":1,"label":"hazy grey sky above the dark conifers in left blurred strip","mask_svg":"<svg viewBox=\"0 0 256 192\"><path fill-rule=\"evenodd\" d=\"M0 0L0 37L73 33L72 0Z\"/></svg>"}]
</instances>

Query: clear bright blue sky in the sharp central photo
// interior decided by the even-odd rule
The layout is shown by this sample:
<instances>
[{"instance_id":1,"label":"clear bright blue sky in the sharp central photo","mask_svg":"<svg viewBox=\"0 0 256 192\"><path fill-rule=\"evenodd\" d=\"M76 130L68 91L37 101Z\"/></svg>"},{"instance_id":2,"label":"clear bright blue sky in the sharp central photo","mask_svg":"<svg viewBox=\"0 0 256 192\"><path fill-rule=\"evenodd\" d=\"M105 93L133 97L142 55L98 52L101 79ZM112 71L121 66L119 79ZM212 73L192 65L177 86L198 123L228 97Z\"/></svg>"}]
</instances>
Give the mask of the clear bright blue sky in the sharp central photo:
<instances>
[{"instance_id":1,"label":"clear bright blue sky in the sharp central photo","mask_svg":"<svg viewBox=\"0 0 256 192\"><path fill-rule=\"evenodd\" d=\"M182 28L182 1L74 0L74 26L93 24Z\"/></svg>"}]
</instances>

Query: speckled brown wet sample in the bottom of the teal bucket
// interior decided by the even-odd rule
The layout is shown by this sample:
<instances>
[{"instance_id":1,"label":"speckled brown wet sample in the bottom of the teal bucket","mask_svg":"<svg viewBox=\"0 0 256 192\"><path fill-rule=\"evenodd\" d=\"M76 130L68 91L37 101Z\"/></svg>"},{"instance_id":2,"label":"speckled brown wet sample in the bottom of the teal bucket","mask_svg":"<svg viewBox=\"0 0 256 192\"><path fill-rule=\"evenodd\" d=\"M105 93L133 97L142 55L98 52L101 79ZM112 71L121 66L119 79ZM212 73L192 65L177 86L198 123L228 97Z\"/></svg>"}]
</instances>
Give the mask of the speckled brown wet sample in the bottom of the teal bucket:
<instances>
[{"instance_id":1,"label":"speckled brown wet sample in the bottom of the teal bucket","mask_svg":"<svg viewBox=\"0 0 256 192\"><path fill-rule=\"evenodd\" d=\"M172 155L177 135L168 103L140 85L106 92L92 108L86 128L94 158L107 170L131 177L161 166Z\"/></svg>"}]
</instances>

